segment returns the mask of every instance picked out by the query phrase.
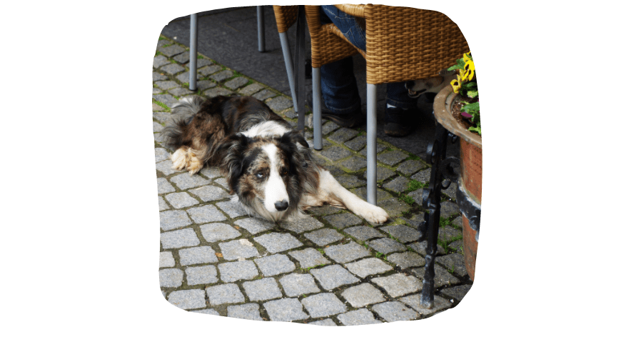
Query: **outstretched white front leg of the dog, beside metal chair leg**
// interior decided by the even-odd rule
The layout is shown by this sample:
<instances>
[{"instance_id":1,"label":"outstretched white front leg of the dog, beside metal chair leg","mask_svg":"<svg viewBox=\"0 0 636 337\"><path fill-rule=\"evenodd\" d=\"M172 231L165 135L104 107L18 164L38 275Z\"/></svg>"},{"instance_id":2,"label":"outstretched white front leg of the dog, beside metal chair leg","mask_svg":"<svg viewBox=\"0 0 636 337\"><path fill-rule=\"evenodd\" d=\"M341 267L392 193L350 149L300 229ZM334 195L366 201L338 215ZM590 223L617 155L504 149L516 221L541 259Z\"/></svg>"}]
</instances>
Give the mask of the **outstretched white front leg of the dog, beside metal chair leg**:
<instances>
[{"instance_id":1,"label":"outstretched white front leg of the dog, beside metal chair leg","mask_svg":"<svg viewBox=\"0 0 636 337\"><path fill-rule=\"evenodd\" d=\"M367 221L385 223L389 219L386 211L358 198L358 196L340 185L329 171L323 169L320 169L320 186L318 193L320 193L320 196L325 198L325 201L328 203L334 206L339 206L338 203L343 204L350 211L358 216L362 216Z\"/></svg>"}]
</instances>

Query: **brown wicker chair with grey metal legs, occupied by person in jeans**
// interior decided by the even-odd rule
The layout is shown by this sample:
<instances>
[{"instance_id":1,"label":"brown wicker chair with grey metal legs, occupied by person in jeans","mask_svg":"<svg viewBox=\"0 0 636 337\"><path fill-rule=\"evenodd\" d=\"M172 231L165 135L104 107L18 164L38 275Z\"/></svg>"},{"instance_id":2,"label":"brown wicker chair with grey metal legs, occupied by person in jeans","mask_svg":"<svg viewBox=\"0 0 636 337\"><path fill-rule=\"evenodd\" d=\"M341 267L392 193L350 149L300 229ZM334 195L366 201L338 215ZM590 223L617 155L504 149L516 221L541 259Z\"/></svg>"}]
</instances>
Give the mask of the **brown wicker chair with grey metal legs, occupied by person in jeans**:
<instances>
[{"instance_id":1,"label":"brown wicker chair with grey metal legs, occupied by person in jeans","mask_svg":"<svg viewBox=\"0 0 636 337\"><path fill-rule=\"evenodd\" d=\"M435 76L468 51L468 43L459 27L438 11L373 4L335 6L365 19L366 52L349 44L334 24L320 24L319 6L306 6L313 68L314 146L322 144L320 66L362 54L367 72L367 201L375 205L378 129L375 85Z\"/></svg>"}]
</instances>

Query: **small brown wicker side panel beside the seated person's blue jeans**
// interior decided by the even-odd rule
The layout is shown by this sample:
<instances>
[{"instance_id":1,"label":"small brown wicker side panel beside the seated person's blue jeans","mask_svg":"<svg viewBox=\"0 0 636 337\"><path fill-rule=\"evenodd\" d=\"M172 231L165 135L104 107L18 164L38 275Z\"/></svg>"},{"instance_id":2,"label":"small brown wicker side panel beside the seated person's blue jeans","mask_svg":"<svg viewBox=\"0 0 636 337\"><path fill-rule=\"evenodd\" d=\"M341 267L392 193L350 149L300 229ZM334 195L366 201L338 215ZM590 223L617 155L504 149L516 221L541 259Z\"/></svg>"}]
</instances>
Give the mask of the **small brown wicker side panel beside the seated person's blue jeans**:
<instances>
[{"instance_id":1,"label":"small brown wicker side panel beside the seated person's blue jeans","mask_svg":"<svg viewBox=\"0 0 636 337\"><path fill-rule=\"evenodd\" d=\"M318 68L323 64L355 55L358 50L340 36L330 33L335 25L320 24L320 6L305 6L309 36L311 36L311 66Z\"/></svg>"}]
</instances>

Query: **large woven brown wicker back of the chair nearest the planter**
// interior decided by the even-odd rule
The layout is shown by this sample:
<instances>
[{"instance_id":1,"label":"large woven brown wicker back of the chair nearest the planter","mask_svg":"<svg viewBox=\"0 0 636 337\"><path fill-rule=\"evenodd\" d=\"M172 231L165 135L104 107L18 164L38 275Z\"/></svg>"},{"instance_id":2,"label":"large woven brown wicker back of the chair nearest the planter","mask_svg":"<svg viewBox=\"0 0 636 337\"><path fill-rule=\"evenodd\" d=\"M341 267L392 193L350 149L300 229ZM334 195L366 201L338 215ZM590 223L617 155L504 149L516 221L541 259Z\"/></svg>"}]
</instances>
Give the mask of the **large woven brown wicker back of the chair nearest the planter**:
<instances>
[{"instance_id":1,"label":"large woven brown wicker back of the chair nearest the planter","mask_svg":"<svg viewBox=\"0 0 636 337\"><path fill-rule=\"evenodd\" d=\"M438 11L365 6L367 83L435 76L468 51L459 27Z\"/></svg>"}]
</instances>

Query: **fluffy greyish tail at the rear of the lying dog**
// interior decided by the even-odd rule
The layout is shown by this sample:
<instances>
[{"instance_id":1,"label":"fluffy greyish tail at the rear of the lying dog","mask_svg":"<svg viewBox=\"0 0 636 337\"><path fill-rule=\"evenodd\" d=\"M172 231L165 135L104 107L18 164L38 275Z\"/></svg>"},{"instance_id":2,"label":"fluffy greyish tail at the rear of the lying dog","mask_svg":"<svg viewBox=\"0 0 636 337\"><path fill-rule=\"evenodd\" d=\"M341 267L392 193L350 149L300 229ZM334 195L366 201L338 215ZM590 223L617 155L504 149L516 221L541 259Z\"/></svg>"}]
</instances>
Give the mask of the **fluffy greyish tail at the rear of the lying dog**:
<instances>
[{"instance_id":1,"label":"fluffy greyish tail at the rear of the lying dog","mask_svg":"<svg viewBox=\"0 0 636 337\"><path fill-rule=\"evenodd\" d=\"M193 96L181 99L172 106L172 120L168 121L166 127L161 131L163 145L173 151L183 146L186 127L197 111L201 109L203 102L201 97Z\"/></svg>"}]
</instances>

